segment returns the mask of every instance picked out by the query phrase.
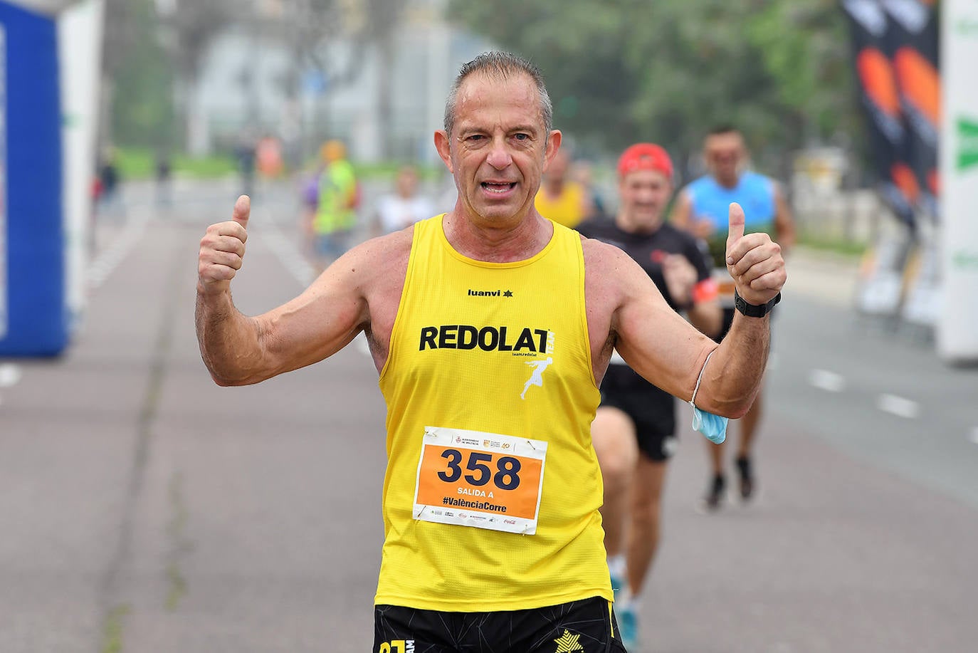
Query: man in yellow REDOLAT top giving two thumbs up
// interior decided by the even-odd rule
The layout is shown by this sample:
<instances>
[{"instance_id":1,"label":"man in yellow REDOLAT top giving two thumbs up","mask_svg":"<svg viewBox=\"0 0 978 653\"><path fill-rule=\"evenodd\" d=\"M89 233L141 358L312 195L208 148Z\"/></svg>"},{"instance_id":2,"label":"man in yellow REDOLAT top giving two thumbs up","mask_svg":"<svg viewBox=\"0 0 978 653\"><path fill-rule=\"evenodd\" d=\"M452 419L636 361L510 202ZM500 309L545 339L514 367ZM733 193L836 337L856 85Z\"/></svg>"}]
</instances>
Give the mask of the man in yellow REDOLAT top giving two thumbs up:
<instances>
[{"instance_id":1,"label":"man in yellow REDOLAT top giving two thumbs up","mask_svg":"<svg viewBox=\"0 0 978 653\"><path fill-rule=\"evenodd\" d=\"M200 241L196 323L217 384L264 381L366 334L387 404L375 652L409 640L420 651L625 650L591 444L611 351L675 396L698 384L696 405L715 414L743 414L759 387L768 318L737 315L717 345L630 257L534 209L560 139L540 71L486 53L462 68L434 135L459 191L449 212L354 247L256 317L230 291L248 199ZM763 306L784 261L768 236L741 235L743 219L732 207L730 267L744 300ZM540 355L553 362L520 399L526 357Z\"/></svg>"}]
</instances>

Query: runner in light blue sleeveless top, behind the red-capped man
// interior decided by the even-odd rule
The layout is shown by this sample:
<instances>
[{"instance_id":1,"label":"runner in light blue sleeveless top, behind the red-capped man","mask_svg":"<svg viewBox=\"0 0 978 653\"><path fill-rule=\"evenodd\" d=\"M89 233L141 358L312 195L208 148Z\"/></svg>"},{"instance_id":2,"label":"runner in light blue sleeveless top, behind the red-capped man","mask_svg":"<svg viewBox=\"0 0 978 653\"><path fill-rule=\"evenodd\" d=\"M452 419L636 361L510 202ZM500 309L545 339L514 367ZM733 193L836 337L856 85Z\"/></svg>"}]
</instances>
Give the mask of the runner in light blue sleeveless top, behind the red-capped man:
<instances>
[{"instance_id":1,"label":"runner in light blue sleeveless top, behind the red-capped man","mask_svg":"<svg viewBox=\"0 0 978 653\"><path fill-rule=\"evenodd\" d=\"M724 307L724 328L717 342L730 330L733 322L733 283L726 271L727 210L735 202L744 209L745 229L769 234L787 252L795 241L794 220L778 184L769 177L748 169L749 155L743 136L731 125L720 125L710 131L703 146L709 174L691 183L680 193L670 220L697 238L707 242L710 255L717 265L721 303ZM754 399L747 414L739 420L739 442L736 465L739 494L749 500L756 490L751 454L763 410L763 390ZM708 510L723 504L727 493L724 474L724 445L706 443L712 467L712 477L703 503Z\"/></svg>"}]
</instances>

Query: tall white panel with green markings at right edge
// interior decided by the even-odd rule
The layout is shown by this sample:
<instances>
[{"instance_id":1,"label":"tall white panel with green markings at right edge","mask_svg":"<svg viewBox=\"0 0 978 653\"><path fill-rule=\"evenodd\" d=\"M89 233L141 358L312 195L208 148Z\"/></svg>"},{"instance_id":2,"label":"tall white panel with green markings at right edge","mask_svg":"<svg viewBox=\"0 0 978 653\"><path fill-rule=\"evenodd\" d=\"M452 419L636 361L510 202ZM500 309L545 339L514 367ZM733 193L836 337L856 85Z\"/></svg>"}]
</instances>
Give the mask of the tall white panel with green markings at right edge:
<instances>
[{"instance_id":1,"label":"tall white panel with green markings at right edge","mask_svg":"<svg viewBox=\"0 0 978 653\"><path fill-rule=\"evenodd\" d=\"M937 348L978 362L978 0L941 3L943 306Z\"/></svg>"}]
</instances>

